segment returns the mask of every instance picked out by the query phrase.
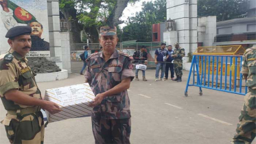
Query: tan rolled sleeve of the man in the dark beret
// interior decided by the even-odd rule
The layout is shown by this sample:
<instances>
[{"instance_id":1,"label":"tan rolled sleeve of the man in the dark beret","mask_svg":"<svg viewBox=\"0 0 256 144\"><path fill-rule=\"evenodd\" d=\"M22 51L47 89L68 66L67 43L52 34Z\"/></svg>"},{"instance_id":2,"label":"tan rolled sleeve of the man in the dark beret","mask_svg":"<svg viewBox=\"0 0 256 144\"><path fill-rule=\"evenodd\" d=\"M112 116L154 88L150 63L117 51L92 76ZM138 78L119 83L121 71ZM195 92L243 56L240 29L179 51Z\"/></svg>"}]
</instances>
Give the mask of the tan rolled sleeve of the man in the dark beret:
<instances>
[{"instance_id":1,"label":"tan rolled sleeve of the man in the dark beret","mask_svg":"<svg viewBox=\"0 0 256 144\"><path fill-rule=\"evenodd\" d=\"M0 60L0 96L3 97L6 92L18 88L18 75L14 64Z\"/></svg>"}]
</instances>

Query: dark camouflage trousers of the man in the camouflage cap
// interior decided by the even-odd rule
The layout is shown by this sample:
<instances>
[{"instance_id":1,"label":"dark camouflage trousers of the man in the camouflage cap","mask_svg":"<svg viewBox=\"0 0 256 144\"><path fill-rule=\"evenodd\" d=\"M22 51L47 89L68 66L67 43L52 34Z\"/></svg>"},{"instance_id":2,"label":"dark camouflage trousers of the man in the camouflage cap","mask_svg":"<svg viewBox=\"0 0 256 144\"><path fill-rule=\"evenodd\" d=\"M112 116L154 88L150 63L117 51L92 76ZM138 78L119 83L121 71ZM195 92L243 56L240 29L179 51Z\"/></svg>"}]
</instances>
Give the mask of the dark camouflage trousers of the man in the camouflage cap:
<instances>
[{"instance_id":1,"label":"dark camouflage trousers of the man in the camouflage cap","mask_svg":"<svg viewBox=\"0 0 256 144\"><path fill-rule=\"evenodd\" d=\"M131 121L129 119L101 119L92 117L95 143L130 144Z\"/></svg>"}]
</instances>

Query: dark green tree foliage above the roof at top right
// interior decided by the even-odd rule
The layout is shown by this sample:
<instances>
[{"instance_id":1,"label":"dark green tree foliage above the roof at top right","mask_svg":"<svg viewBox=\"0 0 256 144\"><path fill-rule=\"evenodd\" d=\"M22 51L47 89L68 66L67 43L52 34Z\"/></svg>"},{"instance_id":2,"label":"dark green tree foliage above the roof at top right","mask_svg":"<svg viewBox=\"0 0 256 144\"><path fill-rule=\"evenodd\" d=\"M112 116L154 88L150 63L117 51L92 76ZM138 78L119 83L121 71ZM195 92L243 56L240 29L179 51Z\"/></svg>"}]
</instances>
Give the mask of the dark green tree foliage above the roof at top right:
<instances>
[{"instance_id":1,"label":"dark green tree foliage above the roof at top right","mask_svg":"<svg viewBox=\"0 0 256 144\"><path fill-rule=\"evenodd\" d=\"M198 16L217 16L217 21L246 17L248 0L198 0Z\"/></svg>"}]
</instances>

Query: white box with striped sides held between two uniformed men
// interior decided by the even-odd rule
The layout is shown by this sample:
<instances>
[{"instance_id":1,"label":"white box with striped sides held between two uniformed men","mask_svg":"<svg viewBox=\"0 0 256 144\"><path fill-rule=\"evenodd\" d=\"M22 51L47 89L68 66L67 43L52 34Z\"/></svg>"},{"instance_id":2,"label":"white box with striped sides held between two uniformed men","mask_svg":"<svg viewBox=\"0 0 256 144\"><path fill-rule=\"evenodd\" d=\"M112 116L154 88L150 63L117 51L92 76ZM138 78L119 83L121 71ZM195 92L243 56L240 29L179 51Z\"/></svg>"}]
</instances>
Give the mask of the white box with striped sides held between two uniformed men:
<instances>
[{"instance_id":1,"label":"white box with striped sides held between two uniformed men","mask_svg":"<svg viewBox=\"0 0 256 144\"><path fill-rule=\"evenodd\" d=\"M93 110L89 104L94 98L95 95L88 83L47 89L45 100L55 102L62 109L61 112L54 115L46 111L47 121L51 123L64 119L89 117Z\"/></svg>"}]
</instances>

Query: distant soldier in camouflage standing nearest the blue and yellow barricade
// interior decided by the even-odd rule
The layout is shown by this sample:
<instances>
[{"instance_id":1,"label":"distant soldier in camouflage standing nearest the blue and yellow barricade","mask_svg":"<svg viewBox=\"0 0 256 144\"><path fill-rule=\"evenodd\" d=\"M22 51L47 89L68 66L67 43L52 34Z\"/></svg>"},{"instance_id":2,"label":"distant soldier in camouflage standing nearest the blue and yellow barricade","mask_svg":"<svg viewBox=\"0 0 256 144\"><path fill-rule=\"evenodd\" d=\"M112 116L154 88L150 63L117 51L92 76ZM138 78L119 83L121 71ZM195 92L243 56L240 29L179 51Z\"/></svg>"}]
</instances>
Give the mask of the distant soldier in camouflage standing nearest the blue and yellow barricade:
<instances>
[{"instance_id":1,"label":"distant soldier in camouflage standing nearest the blue and yellow barricade","mask_svg":"<svg viewBox=\"0 0 256 144\"><path fill-rule=\"evenodd\" d=\"M174 72L176 73L176 79L174 81L181 82L183 76L183 57L185 56L185 49L181 48L178 43L175 43L174 55Z\"/></svg>"}]
</instances>

